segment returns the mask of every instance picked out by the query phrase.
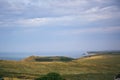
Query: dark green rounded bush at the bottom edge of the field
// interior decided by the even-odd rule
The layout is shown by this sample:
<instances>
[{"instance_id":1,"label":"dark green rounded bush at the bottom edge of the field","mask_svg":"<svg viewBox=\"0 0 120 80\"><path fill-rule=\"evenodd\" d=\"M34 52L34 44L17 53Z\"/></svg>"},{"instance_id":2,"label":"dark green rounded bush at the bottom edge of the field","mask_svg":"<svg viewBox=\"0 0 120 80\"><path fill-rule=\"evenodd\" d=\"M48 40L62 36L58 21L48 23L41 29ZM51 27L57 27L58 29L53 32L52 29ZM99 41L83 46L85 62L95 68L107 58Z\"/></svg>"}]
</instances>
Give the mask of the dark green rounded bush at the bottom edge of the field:
<instances>
[{"instance_id":1,"label":"dark green rounded bush at the bottom edge of the field","mask_svg":"<svg viewBox=\"0 0 120 80\"><path fill-rule=\"evenodd\" d=\"M36 80L65 80L62 78L62 76L58 73L48 73L47 75L37 78Z\"/></svg>"}]
</instances>

